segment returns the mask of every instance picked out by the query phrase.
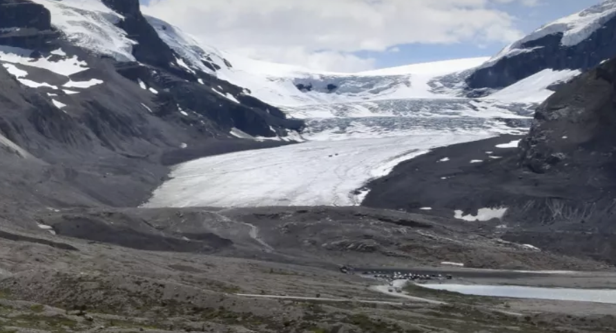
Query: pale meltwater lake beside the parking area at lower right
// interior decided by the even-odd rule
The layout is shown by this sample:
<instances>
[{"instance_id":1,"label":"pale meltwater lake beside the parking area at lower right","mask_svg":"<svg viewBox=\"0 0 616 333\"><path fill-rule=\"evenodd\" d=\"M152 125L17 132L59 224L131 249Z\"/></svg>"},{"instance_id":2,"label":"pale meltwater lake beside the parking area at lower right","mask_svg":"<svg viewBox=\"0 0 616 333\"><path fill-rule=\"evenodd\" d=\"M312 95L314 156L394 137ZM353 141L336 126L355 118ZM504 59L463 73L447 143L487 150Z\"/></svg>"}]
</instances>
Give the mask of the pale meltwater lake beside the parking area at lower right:
<instances>
[{"instance_id":1,"label":"pale meltwater lake beside the parking area at lower right","mask_svg":"<svg viewBox=\"0 0 616 333\"><path fill-rule=\"evenodd\" d=\"M476 296L535 298L553 301L579 301L616 304L616 289L572 289L525 287L518 285L420 285L421 287Z\"/></svg>"}]
</instances>

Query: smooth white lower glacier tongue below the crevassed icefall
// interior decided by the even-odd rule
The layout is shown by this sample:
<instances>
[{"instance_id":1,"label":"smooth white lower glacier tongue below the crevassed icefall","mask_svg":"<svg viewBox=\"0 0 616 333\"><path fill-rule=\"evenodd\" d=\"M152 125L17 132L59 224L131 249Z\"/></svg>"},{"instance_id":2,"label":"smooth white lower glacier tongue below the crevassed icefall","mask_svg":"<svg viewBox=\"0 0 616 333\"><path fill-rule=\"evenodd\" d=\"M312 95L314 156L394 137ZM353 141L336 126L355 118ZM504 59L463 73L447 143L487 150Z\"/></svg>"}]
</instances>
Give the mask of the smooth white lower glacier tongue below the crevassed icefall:
<instances>
[{"instance_id":1,"label":"smooth white lower glacier tongue below the crevassed icefall","mask_svg":"<svg viewBox=\"0 0 616 333\"><path fill-rule=\"evenodd\" d=\"M263 207L359 204L357 191L396 164L490 135L443 134L307 142L202 158L177 166L144 207Z\"/></svg>"}]
</instances>

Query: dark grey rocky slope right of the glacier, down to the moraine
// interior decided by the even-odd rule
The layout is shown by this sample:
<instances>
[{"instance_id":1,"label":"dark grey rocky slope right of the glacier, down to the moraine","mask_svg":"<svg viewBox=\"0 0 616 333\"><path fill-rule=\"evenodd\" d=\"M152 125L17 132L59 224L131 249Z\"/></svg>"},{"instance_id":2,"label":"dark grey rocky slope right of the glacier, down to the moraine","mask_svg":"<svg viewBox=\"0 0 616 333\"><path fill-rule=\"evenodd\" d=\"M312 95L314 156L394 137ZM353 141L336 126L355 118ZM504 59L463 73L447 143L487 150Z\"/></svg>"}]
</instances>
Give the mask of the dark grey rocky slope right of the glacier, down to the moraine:
<instances>
[{"instance_id":1,"label":"dark grey rocky slope right of the glacier, down to the moraine","mask_svg":"<svg viewBox=\"0 0 616 333\"><path fill-rule=\"evenodd\" d=\"M613 263L615 82L611 59L541 104L528 135L435 149L403 162L370 185L363 204L497 218L487 225L506 240Z\"/></svg>"}]
</instances>

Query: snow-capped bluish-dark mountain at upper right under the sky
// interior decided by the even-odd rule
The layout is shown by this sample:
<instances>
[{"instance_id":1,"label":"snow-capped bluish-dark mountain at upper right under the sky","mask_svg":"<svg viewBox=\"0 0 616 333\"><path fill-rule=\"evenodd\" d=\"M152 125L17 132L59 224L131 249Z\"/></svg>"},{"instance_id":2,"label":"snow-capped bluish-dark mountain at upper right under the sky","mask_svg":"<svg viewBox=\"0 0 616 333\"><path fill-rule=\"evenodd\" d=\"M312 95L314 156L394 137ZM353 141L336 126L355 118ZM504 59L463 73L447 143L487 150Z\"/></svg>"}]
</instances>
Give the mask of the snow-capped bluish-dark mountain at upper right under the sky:
<instances>
[{"instance_id":1,"label":"snow-capped bluish-dark mountain at upper right under the sky","mask_svg":"<svg viewBox=\"0 0 616 333\"><path fill-rule=\"evenodd\" d=\"M470 89L503 88L541 70L594 68L616 55L616 1L549 23L514 42L474 71Z\"/></svg>"}]
</instances>

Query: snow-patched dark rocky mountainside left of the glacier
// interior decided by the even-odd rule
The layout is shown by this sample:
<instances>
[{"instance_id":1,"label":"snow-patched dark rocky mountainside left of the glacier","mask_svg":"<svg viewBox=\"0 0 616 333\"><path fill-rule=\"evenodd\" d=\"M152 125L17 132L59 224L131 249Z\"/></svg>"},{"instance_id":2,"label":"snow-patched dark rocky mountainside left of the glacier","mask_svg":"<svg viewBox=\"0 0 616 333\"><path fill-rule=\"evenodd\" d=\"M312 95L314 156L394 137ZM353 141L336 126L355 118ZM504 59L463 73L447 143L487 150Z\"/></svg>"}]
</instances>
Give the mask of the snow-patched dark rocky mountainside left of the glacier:
<instances>
[{"instance_id":1,"label":"snow-patched dark rocky mountainside left of the glacier","mask_svg":"<svg viewBox=\"0 0 616 333\"><path fill-rule=\"evenodd\" d=\"M183 68L137 0L3 0L0 16L5 211L137 205L170 163L279 144L231 131L277 137L302 126Z\"/></svg>"}]
</instances>

